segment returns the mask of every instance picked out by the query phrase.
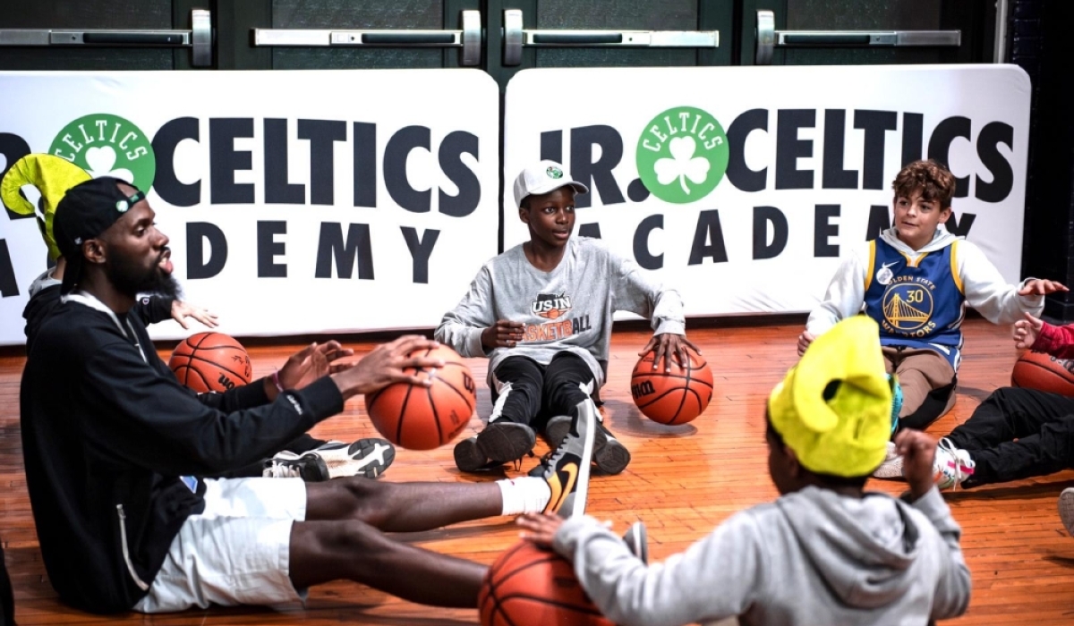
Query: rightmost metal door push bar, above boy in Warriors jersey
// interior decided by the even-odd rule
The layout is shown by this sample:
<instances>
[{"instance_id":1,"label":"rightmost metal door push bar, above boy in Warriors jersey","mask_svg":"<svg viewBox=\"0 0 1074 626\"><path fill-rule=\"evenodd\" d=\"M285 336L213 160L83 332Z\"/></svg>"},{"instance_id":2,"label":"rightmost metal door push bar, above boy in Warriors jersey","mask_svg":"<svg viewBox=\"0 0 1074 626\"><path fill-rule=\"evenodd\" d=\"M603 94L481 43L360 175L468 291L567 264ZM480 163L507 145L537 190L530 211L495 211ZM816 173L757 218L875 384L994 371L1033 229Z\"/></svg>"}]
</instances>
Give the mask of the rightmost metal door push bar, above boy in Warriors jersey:
<instances>
[{"instance_id":1,"label":"rightmost metal door push bar, above boy in Warriors jersey","mask_svg":"<svg viewBox=\"0 0 1074 626\"><path fill-rule=\"evenodd\" d=\"M958 47L960 30L775 30L775 14L757 12L757 48L754 62L772 63L772 52L780 47Z\"/></svg>"}]
</instances>

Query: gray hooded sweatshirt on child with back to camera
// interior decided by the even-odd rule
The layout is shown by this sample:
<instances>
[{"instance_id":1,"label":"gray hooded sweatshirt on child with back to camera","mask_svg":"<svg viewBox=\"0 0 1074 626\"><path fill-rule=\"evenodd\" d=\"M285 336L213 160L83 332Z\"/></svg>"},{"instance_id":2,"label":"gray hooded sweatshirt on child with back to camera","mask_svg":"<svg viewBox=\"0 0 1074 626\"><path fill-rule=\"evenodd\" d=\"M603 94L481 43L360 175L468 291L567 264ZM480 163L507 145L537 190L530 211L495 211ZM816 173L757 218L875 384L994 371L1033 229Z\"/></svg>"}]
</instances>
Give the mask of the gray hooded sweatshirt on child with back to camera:
<instances>
[{"instance_id":1,"label":"gray hooded sweatshirt on child with back to camera","mask_svg":"<svg viewBox=\"0 0 1074 626\"><path fill-rule=\"evenodd\" d=\"M806 487L736 513L663 564L647 567L590 516L567 520L554 548L622 626L732 615L742 624L924 626L969 606L960 535L935 489L906 505Z\"/></svg>"}]
</instances>

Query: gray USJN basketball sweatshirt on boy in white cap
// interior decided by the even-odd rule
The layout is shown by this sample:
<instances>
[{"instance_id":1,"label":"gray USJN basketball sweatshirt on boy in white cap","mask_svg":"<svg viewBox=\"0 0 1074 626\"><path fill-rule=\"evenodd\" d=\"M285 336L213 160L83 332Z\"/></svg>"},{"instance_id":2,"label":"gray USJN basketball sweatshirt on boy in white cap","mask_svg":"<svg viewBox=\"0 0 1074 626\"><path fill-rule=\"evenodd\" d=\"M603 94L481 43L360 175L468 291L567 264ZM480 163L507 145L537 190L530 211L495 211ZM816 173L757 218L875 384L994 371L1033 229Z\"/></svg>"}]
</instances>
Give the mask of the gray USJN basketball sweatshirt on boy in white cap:
<instances>
[{"instance_id":1,"label":"gray USJN basketball sweatshirt on boy in white cap","mask_svg":"<svg viewBox=\"0 0 1074 626\"><path fill-rule=\"evenodd\" d=\"M657 335L685 333L679 292L664 289L600 239L571 238L551 272L534 267L519 245L481 267L462 302L444 316L435 336L463 356L489 356L490 384L496 366L508 356L528 356L547 365L566 350L581 356L604 385L616 310L651 320ZM481 332L496 320L522 322L525 336L513 348L487 353Z\"/></svg>"}]
</instances>

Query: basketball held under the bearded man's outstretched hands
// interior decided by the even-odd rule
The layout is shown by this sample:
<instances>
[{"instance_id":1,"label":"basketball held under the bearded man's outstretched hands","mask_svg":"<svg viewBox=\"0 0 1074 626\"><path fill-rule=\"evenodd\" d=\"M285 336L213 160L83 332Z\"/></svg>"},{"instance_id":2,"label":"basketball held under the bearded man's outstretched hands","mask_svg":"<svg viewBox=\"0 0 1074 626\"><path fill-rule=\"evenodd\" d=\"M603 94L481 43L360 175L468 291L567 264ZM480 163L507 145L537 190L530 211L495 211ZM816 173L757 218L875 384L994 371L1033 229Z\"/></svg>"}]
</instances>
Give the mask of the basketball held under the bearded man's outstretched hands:
<instances>
[{"instance_id":1,"label":"basketball held under the bearded man's outstretched hands","mask_svg":"<svg viewBox=\"0 0 1074 626\"><path fill-rule=\"evenodd\" d=\"M432 379L433 385L389 384L365 396L365 409L377 432L392 443L432 450L454 439L469 423L477 407L477 385L462 356L447 346L417 350L409 356L444 360L440 368L406 369Z\"/></svg>"}]
</instances>

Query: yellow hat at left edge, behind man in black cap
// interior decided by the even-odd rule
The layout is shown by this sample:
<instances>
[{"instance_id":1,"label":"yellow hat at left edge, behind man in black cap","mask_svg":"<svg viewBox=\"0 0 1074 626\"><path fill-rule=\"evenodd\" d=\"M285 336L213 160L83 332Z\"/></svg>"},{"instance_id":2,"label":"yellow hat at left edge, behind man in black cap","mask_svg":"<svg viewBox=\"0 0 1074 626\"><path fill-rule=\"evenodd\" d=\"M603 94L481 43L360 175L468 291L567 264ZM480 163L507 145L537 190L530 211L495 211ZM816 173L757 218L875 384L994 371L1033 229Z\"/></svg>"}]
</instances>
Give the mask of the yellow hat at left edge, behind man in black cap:
<instances>
[{"instance_id":1,"label":"yellow hat at left edge, behind man in black cap","mask_svg":"<svg viewBox=\"0 0 1074 626\"><path fill-rule=\"evenodd\" d=\"M33 205L23 196L20 190L24 185L33 185L41 191L44 220L38 216L38 225L48 246L48 258L55 260L60 256L53 236L56 205L68 189L89 179L90 175L85 170L66 159L53 155L27 155L15 161L0 180L0 201L19 215L34 215Z\"/></svg>"}]
</instances>

